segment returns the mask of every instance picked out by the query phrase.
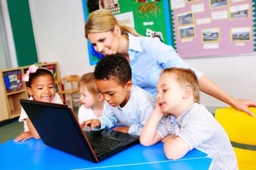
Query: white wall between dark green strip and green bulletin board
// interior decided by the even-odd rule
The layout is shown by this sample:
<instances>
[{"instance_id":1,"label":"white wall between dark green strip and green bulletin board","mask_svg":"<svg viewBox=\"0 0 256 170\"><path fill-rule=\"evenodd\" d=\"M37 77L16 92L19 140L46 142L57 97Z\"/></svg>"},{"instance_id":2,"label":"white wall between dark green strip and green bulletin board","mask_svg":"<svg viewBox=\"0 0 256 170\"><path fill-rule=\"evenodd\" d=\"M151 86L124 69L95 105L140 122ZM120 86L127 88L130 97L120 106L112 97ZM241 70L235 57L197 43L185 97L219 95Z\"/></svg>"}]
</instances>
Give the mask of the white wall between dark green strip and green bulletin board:
<instances>
[{"instance_id":1,"label":"white wall between dark green strip and green bulletin board","mask_svg":"<svg viewBox=\"0 0 256 170\"><path fill-rule=\"evenodd\" d=\"M61 77L92 72L82 0L29 0L38 60L59 62Z\"/></svg>"}]
</instances>

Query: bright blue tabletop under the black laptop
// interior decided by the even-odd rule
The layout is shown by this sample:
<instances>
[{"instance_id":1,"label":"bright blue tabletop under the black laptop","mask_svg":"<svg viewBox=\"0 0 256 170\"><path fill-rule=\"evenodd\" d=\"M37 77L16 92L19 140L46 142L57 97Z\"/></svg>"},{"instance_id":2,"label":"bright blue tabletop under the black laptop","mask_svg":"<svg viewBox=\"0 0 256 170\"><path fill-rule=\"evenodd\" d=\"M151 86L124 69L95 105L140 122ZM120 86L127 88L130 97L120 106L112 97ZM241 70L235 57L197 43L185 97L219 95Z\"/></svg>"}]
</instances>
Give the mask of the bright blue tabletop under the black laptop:
<instances>
[{"instance_id":1,"label":"bright blue tabletop under the black laptop","mask_svg":"<svg viewBox=\"0 0 256 170\"><path fill-rule=\"evenodd\" d=\"M63 141L65 142L65 141ZM25 142L9 140L0 144L0 169L171 169L171 170L208 170L211 159L196 149L189 151L178 160L169 160L163 152L163 143L151 147L136 144L108 159L93 163L64 153L43 144L42 140L29 139Z\"/></svg>"}]
</instances>

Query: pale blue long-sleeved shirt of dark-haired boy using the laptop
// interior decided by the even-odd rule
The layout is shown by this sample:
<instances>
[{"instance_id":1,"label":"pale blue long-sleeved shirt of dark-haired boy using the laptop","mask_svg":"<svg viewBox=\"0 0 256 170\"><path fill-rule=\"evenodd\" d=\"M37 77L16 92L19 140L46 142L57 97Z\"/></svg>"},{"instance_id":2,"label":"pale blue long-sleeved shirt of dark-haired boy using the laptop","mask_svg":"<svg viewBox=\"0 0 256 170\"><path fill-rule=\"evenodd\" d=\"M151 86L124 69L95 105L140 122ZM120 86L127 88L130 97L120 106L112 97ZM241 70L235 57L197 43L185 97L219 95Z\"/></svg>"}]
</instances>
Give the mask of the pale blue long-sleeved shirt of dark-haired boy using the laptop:
<instances>
[{"instance_id":1,"label":"pale blue long-sleeved shirt of dark-haired boy using the laptop","mask_svg":"<svg viewBox=\"0 0 256 170\"><path fill-rule=\"evenodd\" d=\"M120 106L112 107L106 102L106 108L108 109L99 118L100 128L110 128L119 120L120 123L129 127L129 134L140 135L142 127L155 107L156 99L152 94L136 85L132 85L130 98L123 108Z\"/></svg>"}]
</instances>

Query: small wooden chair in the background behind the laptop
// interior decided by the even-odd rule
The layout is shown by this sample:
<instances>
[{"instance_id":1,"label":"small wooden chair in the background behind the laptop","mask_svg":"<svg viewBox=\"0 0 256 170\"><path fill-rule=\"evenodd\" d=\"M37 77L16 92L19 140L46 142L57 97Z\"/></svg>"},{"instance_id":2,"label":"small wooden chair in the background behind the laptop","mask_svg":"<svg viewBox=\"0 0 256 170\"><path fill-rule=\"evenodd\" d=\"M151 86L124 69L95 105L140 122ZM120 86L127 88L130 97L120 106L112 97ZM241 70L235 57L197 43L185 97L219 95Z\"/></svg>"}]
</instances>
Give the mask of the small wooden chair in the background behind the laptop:
<instances>
[{"instance_id":1,"label":"small wooden chair in the background behind the laptop","mask_svg":"<svg viewBox=\"0 0 256 170\"><path fill-rule=\"evenodd\" d=\"M79 103L79 101L74 101L74 99L79 99L79 97L72 96L73 94L78 94L78 82L80 78L78 75L70 75L65 76L62 79L55 80L55 84L57 85L56 93L60 94L61 100L63 103L70 103L70 106L73 108L73 105ZM64 89L62 89L62 85L64 85ZM63 98L65 95L65 99ZM66 97L69 99L66 99Z\"/></svg>"}]
</instances>

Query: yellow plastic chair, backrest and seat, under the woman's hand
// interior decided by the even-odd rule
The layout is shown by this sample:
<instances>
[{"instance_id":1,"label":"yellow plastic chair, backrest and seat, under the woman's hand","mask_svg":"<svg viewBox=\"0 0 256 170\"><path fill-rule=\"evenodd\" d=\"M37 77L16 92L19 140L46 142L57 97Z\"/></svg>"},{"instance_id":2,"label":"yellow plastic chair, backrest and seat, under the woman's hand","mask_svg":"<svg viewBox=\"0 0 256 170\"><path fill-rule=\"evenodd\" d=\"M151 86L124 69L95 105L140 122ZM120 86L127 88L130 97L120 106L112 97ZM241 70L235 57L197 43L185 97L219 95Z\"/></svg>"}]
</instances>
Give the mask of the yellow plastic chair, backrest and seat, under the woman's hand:
<instances>
[{"instance_id":1,"label":"yellow plastic chair, backrest and seat, under the woman's hand","mask_svg":"<svg viewBox=\"0 0 256 170\"><path fill-rule=\"evenodd\" d=\"M256 115L256 108L249 107ZM218 108L215 119L226 130L230 141L256 146L256 117L234 108ZM256 170L256 151L233 147L239 170Z\"/></svg>"}]
</instances>

